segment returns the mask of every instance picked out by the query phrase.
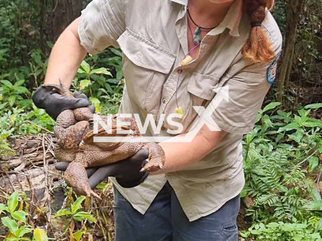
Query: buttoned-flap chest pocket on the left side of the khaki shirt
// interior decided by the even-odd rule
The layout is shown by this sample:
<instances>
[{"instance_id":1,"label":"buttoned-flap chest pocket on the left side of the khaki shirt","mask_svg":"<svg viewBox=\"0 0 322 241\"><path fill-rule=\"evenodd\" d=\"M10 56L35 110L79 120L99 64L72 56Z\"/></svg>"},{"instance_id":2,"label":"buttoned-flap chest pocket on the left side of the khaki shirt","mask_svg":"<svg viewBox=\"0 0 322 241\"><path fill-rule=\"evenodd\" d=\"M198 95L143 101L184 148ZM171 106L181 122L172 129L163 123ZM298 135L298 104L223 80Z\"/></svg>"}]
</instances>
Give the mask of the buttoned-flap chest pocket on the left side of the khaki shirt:
<instances>
[{"instance_id":1,"label":"buttoned-flap chest pocket on the left side of the khaki shirt","mask_svg":"<svg viewBox=\"0 0 322 241\"><path fill-rule=\"evenodd\" d=\"M163 84L176 55L129 28L117 42L123 51L123 74L128 94L141 109L155 114L160 105Z\"/></svg>"}]
</instances>

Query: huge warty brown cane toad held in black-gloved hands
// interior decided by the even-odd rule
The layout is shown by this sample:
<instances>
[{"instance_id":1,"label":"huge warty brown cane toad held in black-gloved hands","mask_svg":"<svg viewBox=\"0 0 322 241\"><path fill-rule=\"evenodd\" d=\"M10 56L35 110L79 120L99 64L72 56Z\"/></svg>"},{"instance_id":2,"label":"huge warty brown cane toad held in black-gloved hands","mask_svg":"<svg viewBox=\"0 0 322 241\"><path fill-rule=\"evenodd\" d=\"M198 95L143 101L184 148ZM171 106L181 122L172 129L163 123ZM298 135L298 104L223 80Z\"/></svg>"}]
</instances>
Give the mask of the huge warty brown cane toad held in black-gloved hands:
<instances>
[{"instance_id":1,"label":"huge warty brown cane toad held in black-gloved hands","mask_svg":"<svg viewBox=\"0 0 322 241\"><path fill-rule=\"evenodd\" d=\"M44 84L63 96L73 97L59 79L60 84ZM154 172L163 168L165 152L156 143L144 140L135 119L119 115L100 116L112 125L106 130L98 123L98 133L94 133L94 114L88 107L64 110L56 119L54 134L57 138L55 156L57 160L71 162L65 172L67 185L73 187L78 195L100 198L90 187L86 168L107 165L126 159L141 149L149 150L149 162L141 169ZM109 119L112 118L112 119ZM77 122L76 122L77 121ZM120 125L127 122L130 125ZM121 133L120 130L127 131ZM94 142L94 137L114 137L115 142ZM135 141L130 138L135 137ZM127 142L121 141L127 138Z\"/></svg>"}]
</instances>

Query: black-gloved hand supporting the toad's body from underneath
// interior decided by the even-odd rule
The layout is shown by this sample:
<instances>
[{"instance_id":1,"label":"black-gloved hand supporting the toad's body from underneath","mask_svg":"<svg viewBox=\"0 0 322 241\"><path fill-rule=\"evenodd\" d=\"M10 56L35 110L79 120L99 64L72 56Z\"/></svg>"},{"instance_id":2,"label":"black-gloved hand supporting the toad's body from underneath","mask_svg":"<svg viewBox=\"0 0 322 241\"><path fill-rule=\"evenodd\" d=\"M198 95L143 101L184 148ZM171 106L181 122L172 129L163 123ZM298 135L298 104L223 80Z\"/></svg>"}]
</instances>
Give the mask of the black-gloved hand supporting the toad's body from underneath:
<instances>
[{"instance_id":1,"label":"black-gloved hand supporting the toad's body from underneath","mask_svg":"<svg viewBox=\"0 0 322 241\"><path fill-rule=\"evenodd\" d=\"M86 169L91 188L95 188L107 177L115 177L116 181L124 188L136 187L145 181L149 172L140 172L147 163L149 151L138 151L133 156L102 167L90 167ZM69 162L59 162L55 165L58 171L65 171Z\"/></svg>"}]
</instances>

